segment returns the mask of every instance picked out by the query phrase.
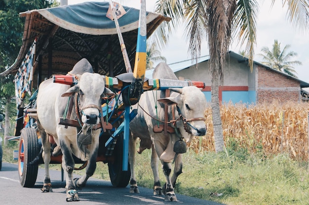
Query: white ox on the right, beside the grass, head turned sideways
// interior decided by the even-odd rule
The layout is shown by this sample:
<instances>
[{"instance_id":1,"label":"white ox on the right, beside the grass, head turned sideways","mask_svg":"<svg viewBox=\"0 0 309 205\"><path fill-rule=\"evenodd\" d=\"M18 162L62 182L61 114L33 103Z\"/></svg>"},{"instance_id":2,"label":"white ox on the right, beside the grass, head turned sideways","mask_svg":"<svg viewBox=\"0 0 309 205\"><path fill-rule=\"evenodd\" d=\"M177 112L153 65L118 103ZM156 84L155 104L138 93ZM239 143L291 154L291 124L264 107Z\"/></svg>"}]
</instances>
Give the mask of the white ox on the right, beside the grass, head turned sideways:
<instances>
[{"instance_id":1,"label":"white ox on the right, beside the grass, head turned sideways","mask_svg":"<svg viewBox=\"0 0 309 205\"><path fill-rule=\"evenodd\" d=\"M166 63L159 63L155 67L153 78L178 80ZM176 141L184 139L189 143L193 139L193 136L203 136L206 134L206 126L204 122L206 98L202 91L194 86L170 88L170 90L169 97L165 97L165 91L146 91L141 95L139 105L134 106L134 108L138 109L138 114L130 122L130 130L132 133L132 140L130 140L129 146L129 162L131 165L130 192L139 193L134 172L134 156L136 139L140 138L141 142L137 151L138 153L142 153L146 148L152 148L151 167L154 173L154 195L162 195L158 176L158 161L160 160L163 173L166 177L166 184L163 187L163 193L165 194L164 200L177 201L174 193L174 186L177 177L182 173L182 154L178 153L176 155L176 152L174 152L174 145ZM157 103L156 101L161 103ZM167 112L168 120L164 117L164 105L162 103L169 105ZM155 109L156 105L157 110ZM174 110L173 112L175 113L174 117L172 110ZM172 131L175 131L174 133L167 132L167 135L165 136L164 131L157 132L158 123L160 123L160 127L163 127L162 123L158 120L169 121L173 118L181 119L180 115L183 117L182 120L176 121L174 125L172 123L169 124L169 126L172 127ZM187 123L184 121L187 121ZM183 144L177 145L179 146ZM173 176L170 177L171 162L174 159L174 172Z\"/></svg>"}]
</instances>

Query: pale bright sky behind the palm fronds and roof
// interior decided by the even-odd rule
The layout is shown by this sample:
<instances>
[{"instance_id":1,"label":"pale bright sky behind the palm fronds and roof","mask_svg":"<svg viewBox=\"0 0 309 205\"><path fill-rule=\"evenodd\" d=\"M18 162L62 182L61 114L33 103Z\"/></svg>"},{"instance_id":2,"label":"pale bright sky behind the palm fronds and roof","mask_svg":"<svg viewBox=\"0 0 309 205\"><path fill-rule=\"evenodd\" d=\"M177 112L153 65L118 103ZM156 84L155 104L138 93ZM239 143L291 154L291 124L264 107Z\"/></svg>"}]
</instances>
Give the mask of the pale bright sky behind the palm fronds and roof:
<instances>
[{"instance_id":1,"label":"pale bright sky behind the palm fronds and roof","mask_svg":"<svg viewBox=\"0 0 309 205\"><path fill-rule=\"evenodd\" d=\"M58 0L60 1L60 0ZM109 0L68 0L68 4L81 3L85 1L109 1ZM120 2L120 0L114 0ZM140 0L122 0L122 4L140 8ZM146 0L146 10L154 11L156 0ZM291 47L288 51L296 52L298 55L293 60L302 62L302 65L295 65L297 77L309 83L309 30L300 31L294 28L287 20L287 9L282 8L281 0L276 0L273 7L270 8L270 0L258 0L260 10L257 18L257 45L255 49L254 60L261 61L262 47L272 48L274 40L280 43L281 51L286 45ZM208 55L207 42L203 42L201 46L201 56ZM179 27L171 33L169 42L164 50L161 51L161 56L165 57L167 63L179 62L185 59L191 59L188 54L189 44L186 36L184 36L183 27ZM230 51L238 53L244 50L244 46L240 47L237 40L233 40L230 46ZM181 52L180 52L181 51Z\"/></svg>"}]
</instances>

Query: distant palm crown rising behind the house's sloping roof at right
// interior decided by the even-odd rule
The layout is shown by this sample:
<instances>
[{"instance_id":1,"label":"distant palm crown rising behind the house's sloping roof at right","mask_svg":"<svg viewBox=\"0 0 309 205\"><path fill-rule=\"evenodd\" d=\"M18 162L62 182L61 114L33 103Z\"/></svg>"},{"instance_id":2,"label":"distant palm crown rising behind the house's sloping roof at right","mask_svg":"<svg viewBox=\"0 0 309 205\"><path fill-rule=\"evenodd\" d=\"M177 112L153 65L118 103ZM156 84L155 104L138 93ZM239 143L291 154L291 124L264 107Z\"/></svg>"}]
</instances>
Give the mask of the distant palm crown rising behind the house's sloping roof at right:
<instances>
[{"instance_id":1,"label":"distant palm crown rising behind the house's sloping roof at right","mask_svg":"<svg viewBox=\"0 0 309 205\"><path fill-rule=\"evenodd\" d=\"M280 43L278 43L278 40L274 40L271 51L268 47L262 48L263 54L259 54L259 56L263 57L264 61L261 63L297 78L297 72L292 65L302 65L302 62L298 60L289 61L297 56L297 53L287 51L290 47L287 44L281 51Z\"/></svg>"}]
</instances>

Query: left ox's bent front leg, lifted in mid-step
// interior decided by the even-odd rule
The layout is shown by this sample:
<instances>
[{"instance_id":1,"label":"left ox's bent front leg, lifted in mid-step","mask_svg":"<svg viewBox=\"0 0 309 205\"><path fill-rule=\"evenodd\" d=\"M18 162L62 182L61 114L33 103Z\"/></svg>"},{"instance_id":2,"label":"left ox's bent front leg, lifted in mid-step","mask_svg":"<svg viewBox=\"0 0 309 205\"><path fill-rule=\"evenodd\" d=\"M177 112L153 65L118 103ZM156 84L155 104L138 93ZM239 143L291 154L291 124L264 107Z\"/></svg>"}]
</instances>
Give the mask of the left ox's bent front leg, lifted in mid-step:
<instances>
[{"instance_id":1,"label":"left ox's bent front leg, lifted in mid-step","mask_svg":"<svg viewBox=\"0 0 309 205\"><path fill-rule=\"evenodd\" d=\"M95 169L97 168L96 159L98 155L98 148L99 148L99 144L96 147L96 149L93 151L90 159L88 160L88 164L86 166L86 174L80 178L74 179L77 189L81 189L82 187L86 186L88 178L94 174Z\"/></svg>"}]
</instances>

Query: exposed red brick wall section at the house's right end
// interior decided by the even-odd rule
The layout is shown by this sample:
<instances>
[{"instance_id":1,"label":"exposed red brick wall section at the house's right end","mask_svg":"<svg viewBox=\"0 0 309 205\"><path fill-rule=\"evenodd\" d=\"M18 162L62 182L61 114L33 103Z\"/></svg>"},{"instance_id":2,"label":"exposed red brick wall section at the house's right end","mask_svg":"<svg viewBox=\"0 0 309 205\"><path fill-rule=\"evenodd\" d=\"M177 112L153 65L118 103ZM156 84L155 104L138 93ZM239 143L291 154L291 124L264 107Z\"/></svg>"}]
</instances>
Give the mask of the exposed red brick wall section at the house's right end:
<instances>
[{"instance_id":1,"label":"exposed red brick wall section at the house's right end","mask_svg":"<svg viewBox=\"0 0 309 205\"><path fill-rule=\"evenodd\" d=\"M257 67L257 72L257 102L271 103L274 99L280 102L301 100L300 82L261 65Z\"/></svg>"}]
</instances>

